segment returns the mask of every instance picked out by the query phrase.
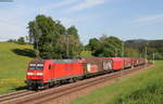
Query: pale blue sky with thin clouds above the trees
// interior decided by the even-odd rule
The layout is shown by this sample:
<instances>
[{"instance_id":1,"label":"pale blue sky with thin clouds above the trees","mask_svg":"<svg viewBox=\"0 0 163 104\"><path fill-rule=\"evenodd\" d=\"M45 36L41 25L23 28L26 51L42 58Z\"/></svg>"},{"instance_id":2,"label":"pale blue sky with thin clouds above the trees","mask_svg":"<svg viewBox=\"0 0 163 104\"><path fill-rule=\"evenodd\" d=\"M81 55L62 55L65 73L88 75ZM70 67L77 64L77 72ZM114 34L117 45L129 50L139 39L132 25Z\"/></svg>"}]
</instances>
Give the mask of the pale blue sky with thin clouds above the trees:
<instances>
[{"instance_id":1,"label":"pale blue sky with thin clouds above the trees","mask_svg":"<svg viewBox=\"0 0 163 104\"><path fill-rule=\"evenodd\" d=\"M76 26L83 43L102 35L163 39L163 0L0 0L0 41L28 35L36 15ZM12 0L7 0L12 1Z\"/></svg>"}]
</instances>

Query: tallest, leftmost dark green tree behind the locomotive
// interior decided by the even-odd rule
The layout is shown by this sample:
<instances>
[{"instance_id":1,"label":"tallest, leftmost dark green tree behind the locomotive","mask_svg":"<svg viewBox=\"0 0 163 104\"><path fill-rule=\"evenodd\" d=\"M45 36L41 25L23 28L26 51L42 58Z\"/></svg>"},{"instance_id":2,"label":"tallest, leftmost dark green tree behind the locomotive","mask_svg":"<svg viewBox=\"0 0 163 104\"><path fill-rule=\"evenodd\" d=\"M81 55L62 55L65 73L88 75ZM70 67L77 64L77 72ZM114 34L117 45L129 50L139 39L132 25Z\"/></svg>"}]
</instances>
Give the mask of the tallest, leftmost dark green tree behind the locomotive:
<instances>
[{"instance_id":1,"label":"tallest, leftmost dark green tree behind the locomotive","mask_svg":"<svg viewBox=\"0 0 163 104\"><path fill-rule=\"evenodd\" d=\"M57 40L65 32L65 27L59 21L53 21L45 15L37 15L36 20L28 23L29 40L38 50L42 58L59 57L57 54Z\"/></svg>"}]
</instances>

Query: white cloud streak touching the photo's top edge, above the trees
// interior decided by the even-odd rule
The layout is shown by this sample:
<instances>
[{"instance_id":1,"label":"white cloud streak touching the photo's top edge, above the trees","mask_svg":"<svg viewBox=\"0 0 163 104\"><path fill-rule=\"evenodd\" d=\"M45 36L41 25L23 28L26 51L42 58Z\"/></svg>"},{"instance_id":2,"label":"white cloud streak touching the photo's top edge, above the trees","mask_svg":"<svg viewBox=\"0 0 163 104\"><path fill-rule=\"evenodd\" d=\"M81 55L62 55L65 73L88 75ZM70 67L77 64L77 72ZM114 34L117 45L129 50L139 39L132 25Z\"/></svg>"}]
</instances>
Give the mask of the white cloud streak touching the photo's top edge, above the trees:
<instances>
[{"instance_id":1,"label":"white cloud streak touching the photo's top edge, above the trees","mask_svg":"<svg viewBox=\"0 0 163 104\"><path fill-rule=\"evenodd\" d=\"M100 5L103 4L104 0L84 0L84 2L80 2L70 9L66 10L67 13L70 12L77 12L77 11L82 11L85 9L90 9L93 8L96 5Z\"/></svg>"}]
</instances>

